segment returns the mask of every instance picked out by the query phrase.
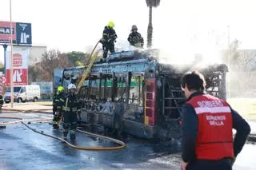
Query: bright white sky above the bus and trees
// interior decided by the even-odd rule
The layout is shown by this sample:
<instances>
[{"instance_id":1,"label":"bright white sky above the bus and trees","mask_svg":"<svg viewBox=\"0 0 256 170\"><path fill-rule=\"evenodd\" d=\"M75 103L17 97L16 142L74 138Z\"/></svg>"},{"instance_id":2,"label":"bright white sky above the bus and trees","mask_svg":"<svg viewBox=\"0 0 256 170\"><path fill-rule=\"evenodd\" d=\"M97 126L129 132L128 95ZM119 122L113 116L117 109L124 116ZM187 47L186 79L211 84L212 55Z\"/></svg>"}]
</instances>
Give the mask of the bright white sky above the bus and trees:
<instances>
[{"instance_id":1,"label":"bright white sky above the bus and trees","mask_svg":"<svg viewBox=\"0 0 256 170\"><path fill-rule=\"evenodd\" d=\"M12 5L13 21L31 22L33 44L48 49L86 51L110 20L118 44L127 43L134 24L146 42L145 0L12 0ZM238 38L241 48L256 49L255 5L251 0L162 0L153 10L154 46L177 55L211 53L226 48L230 26L231 41ZM1 0L0 21L9 20L9 0Z\"/></svg>"}]
</instances>

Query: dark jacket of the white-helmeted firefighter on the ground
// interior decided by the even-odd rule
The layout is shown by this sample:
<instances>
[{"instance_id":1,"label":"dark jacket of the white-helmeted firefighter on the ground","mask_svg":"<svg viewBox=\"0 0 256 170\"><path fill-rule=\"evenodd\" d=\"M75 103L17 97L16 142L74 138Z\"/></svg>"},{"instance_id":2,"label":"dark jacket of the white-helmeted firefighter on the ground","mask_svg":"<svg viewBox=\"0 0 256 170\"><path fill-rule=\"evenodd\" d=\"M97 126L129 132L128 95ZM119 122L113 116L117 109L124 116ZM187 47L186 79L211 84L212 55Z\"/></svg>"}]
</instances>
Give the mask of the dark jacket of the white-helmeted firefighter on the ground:
<instances>
[{"instance_id":1,"label":"dark jacket of the white-helmeted firefighter on the ground","mask_svg":"<svg viewBox=\"0 0 256 170\"><path fill-rule=\"evenodd\" d=\"M62 111L64 113L78 113L81 111L81 105L75 94L68 93L60 99Z\"/></svg>"}]
</instances>

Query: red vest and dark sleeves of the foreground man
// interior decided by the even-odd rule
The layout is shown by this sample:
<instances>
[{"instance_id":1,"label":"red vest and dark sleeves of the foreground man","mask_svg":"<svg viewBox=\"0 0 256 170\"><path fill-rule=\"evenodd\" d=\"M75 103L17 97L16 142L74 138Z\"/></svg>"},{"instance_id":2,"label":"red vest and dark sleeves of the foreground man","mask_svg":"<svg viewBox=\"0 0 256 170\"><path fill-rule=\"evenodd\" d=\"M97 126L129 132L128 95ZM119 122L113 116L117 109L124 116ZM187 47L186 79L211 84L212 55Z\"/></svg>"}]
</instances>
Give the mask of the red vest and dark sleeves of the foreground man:
<instances>
[{"instance_id":1,"label":"red vest and dark sleeves of the foreground man","mask_svg":"<svg viewBox=\"0 0 256 170\"><path fill-rule=\"evenodd\" d=\"M226 101L193 93L182 108L182 160L234 158L249 133L248 123Z\"/></svg>"}]
</instances>

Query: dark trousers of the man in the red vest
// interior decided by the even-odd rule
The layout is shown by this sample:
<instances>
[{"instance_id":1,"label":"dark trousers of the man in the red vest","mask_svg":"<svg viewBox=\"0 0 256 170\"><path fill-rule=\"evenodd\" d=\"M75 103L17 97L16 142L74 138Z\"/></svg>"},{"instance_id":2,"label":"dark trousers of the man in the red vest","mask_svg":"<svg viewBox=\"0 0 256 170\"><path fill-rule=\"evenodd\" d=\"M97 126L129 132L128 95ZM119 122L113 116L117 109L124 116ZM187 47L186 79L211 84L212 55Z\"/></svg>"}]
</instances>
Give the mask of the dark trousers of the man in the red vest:
<instances>
[{"instance_id":1,"label":"dark trousers of the man in the red vest","mask_svg":"<svg viewBox=\"0 0 256 170\"><path fill-rule=\"evenodd\" d=\"M189 163L187 170L232 170L231 159L222 160L194 160Z\"/></svg>"}]
</instances>

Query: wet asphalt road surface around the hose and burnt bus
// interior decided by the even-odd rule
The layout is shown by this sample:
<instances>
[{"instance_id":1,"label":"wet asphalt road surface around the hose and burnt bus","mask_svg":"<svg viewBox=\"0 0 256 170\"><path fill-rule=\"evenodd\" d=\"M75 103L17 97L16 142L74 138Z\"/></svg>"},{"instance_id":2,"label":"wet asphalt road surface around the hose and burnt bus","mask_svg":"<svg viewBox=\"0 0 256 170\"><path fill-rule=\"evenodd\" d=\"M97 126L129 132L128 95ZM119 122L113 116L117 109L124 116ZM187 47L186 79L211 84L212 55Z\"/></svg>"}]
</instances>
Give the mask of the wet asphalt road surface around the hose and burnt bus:
<instances>
[{"instance_id":1,"label":"wet asphalt road surface around the hose and burnt bus","mask_svg":"<svg viewBox=\"0 0 256 170\"><path fill-rule=\"evenodd\" d=\"M49 114L8 113L2 116L49 118ZM13 120L0 120L13 121ZM55 136L46 122L32 122L33 128ZM132 136L122 138L127 147L118 151L81 151L59 140L42 136L22 124L0 129L0 169L180 169L180 144L177 141L153 144ZM113 146L109 141L77 133L79 146ZM234 170L255 170L254 144L246 144L234 164Z\"/></svg>"}]
</instances>

